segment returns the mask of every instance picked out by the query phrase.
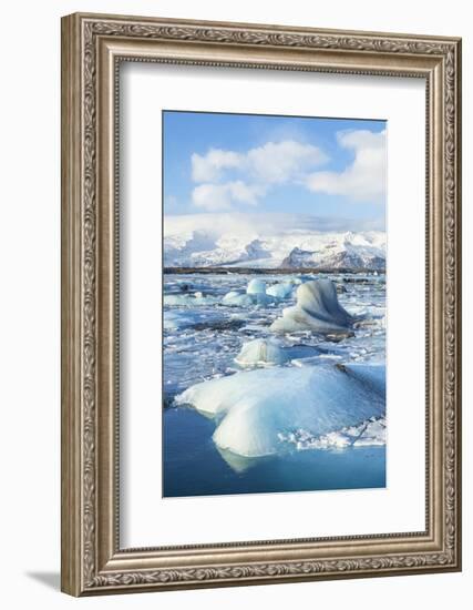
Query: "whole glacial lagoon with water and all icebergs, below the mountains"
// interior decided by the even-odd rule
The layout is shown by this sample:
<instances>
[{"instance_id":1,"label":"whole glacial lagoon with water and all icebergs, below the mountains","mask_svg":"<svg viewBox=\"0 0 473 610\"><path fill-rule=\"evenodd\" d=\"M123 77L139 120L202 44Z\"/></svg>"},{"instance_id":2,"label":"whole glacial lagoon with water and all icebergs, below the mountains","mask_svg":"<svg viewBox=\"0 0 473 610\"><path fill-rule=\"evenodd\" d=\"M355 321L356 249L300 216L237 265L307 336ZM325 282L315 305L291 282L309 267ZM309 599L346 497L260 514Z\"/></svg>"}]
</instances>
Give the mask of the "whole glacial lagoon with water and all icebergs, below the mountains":
<instances>
[{"instance_id":1,"label":"whole glacial lagoon with water and all icebergs, below the mountains","mask_svg":"<svg viewBox=\"0 0 473 610\"><path fill-rule=\"evenodd\" d=\"M165 274L163 495L385 487L384 358L384 274Z\"/></svg>"}]
</instances>

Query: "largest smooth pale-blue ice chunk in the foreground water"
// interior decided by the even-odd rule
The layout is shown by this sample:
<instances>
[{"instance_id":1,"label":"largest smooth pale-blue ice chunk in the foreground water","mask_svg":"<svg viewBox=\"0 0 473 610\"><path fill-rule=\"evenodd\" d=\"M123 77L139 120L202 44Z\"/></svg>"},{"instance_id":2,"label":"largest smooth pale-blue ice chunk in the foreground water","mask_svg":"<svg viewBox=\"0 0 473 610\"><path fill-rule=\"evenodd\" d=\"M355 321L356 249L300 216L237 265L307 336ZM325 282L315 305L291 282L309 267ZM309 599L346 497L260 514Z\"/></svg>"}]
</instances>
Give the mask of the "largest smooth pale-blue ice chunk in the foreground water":
<instances>
[{"instance_id":1,"label":"largest smooth pale-blue ice chunk in the foreground water","mask_svg":"<svg viewBox=\"0 0 473 610\"><path fill-rule=\"evenodd\" d=\"M332 365L236 373L192 386L175 401L215 417L215 444L246 457L284 450L280 435L295 429L319 437L384 415L383 397Z\"/></svg>"}]
</instances>

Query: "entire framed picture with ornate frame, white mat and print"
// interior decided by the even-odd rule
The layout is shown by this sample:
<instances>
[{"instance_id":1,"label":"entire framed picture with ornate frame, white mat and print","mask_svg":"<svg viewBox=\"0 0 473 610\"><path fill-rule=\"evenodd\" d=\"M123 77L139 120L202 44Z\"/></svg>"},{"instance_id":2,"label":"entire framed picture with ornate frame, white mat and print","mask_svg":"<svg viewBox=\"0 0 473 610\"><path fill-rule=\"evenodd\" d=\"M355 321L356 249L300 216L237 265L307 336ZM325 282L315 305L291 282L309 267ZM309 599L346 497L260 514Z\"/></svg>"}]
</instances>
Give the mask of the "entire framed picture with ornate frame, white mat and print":
<instances>
[{"instance_id":1,"label":"entire framed picture with ornate frame, white mat and print","mask_svg":"<svg viewBox=\"0 0 473 610\"><path fill-rule=\"evenodd\" d=\"M62 590L461 569L461 41L62 20Z\"/></svg>"}]
</instances>

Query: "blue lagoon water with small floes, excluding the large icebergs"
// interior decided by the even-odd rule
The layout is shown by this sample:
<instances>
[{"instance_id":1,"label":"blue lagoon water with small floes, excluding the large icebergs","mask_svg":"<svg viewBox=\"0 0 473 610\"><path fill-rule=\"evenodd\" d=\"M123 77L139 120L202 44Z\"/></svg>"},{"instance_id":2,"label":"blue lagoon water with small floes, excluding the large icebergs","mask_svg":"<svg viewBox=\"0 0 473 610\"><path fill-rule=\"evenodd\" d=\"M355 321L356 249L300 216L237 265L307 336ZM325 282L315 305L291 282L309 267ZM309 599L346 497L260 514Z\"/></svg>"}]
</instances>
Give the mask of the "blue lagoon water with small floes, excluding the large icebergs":
<instances>
[{"instance_id":1,"label":"blue lagoon water with small floes, excluding the large icebergs","mask_svg":"<svg viewBox=\"0 0 473 610\"><path fill-rule=\"evenodd\" d=\"M378 445L369 437L353 444L357 429L349 434L342 430L335 438L333 435L315 438L310 430L286 428L280 430L286 443L278 455L246 459L216 445L215 420L175 404L177 395L196 384L244 370L235 362L241 347L251 340L273 340L275 333L270 325L284 308L296 304L298 285L318 277L267 274L264 282L268 294L279 293L281 297L258 296L239 303L235 299L238 304L229 306L225 295L246 295L255 276L165 276L165 294L177 297L166 299L169 305L165 305L164 313L165 496L384 487L385 448L381 437L374 439ZM384 362L384 276L331 274L329 277L338 288L340 304L358 322L350 334L341 337L328 338L313 332L277 336L287 353L296 356L302 353L302 357L292 357L284 364L285 370L328 363ZM279 291L279 285L285 289ZM288 289L290 285L292 291ZM370 427L377 429L383 425L379 421Z\"/></svg>"}]
</instances>

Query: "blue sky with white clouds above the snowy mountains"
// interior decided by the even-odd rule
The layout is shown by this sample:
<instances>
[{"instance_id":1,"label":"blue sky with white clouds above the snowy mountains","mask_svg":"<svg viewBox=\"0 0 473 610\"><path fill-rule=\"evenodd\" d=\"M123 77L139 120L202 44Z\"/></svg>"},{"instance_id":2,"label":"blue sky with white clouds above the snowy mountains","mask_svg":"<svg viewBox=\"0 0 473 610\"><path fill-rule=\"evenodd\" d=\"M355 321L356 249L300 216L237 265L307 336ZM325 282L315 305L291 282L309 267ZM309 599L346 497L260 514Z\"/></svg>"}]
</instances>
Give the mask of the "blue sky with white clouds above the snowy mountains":
<instances>
[{"instance_id":1,"label":"blue sky with white clouds above the snowy mountains","mask_svg":"<svg viewBox=\"0 0 473 610\"><path fill-rule=\"evenodd\" d=\"M383 224L385 122L163 112L164 213Z\"/></svg>"}]
</instances>

